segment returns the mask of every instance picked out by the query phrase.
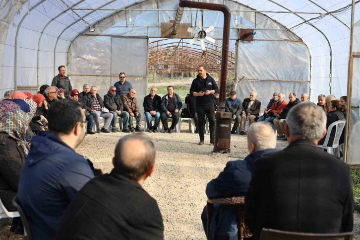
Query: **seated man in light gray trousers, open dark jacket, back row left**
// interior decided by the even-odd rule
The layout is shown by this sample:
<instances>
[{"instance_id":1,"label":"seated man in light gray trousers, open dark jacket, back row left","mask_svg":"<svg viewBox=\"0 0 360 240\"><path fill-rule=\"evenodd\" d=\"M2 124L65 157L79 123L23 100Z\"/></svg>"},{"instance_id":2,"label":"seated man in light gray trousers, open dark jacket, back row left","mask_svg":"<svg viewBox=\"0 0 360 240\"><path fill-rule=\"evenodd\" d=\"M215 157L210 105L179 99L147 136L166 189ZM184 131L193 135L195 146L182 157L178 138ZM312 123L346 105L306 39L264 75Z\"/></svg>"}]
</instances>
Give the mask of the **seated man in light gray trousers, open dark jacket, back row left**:
<instances>
[{"instance_id":1,"label":"seated man in light gray trousers, open dark jacket, back row left","mask_svg":"<svg viewBox=\"0 0 360 240\"><path fill-rule=\"evenodd\" d=\"M103 99L97 92L98 88L96 86L92 86L87 96L82 99L82 102L84 103L85 109L94 117L95 125L98 129L97 133L110 133L109 127L114 115L110 112L103 112L101 110L101 108L104 107L104 103ZM105 119L104 126L101 130L100 117Z\"/></svg>"}]
</instances>

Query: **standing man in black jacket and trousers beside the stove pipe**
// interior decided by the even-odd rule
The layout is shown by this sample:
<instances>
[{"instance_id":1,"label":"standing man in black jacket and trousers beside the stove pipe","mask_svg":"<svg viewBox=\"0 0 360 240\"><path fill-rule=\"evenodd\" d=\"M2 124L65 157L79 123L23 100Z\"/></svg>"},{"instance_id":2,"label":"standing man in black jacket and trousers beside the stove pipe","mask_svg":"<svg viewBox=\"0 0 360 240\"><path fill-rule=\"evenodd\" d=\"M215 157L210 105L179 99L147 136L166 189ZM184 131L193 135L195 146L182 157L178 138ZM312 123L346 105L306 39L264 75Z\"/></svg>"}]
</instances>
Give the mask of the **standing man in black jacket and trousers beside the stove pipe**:
<instances>
[{"instance_id":1,"label":"standing man in black jacket and trousers beside the stove pipe","mask_svg":"<svg viewBox=\"0 0 360 240\"><path fill-rule=\"evenodd\" d=\"M204 118L205 115L210 125L210 144L215 143L215 109L214 94L219 92L216 81L207 73L205 66L200 66L198 75L191 83L190 95L196 97L196 111L200 142L204 145Z\"/></svg>"}]
</instances>

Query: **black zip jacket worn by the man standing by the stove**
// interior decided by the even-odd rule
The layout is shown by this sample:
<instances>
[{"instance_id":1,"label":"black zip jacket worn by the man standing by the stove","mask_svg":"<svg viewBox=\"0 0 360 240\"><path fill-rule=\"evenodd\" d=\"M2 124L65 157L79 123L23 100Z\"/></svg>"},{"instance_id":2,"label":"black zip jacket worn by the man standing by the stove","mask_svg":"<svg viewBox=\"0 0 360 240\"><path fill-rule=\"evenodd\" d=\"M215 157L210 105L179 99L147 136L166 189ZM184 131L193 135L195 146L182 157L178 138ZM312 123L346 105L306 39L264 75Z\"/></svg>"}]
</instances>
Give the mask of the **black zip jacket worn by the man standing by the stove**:
<instances>
[{"instance_id":1,"label":"black zip jacket worn by the man standing by the stove","mask_svg":"<svg viewBox=\"0 0 360 240\"><path fill-rule=\"evenodd\" d=\"M215 90L215 93L219 92L219 87L216 84L216 81L210 77L209 74L206 74L205 84L200 79L199 75L196 79L192 80L190 87L190 95L193 96L194 92L205 92L206 90ZM201 105L214 105L214 94L197 96L196 97L196 106Z\"/></svg>"}]
</instances>

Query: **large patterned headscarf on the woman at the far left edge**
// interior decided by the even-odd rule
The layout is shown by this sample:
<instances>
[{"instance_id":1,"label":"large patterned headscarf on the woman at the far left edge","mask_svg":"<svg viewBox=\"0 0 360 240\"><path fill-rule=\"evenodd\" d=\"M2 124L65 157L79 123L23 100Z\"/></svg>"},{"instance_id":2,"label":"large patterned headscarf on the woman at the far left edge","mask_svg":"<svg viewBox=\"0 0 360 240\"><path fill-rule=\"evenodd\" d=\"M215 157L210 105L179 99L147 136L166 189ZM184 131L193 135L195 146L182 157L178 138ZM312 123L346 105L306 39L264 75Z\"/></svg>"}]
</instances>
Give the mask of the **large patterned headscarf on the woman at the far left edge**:
<instances>
[{"instance_id":1,"label":"large patterned headscarf on the woman at the far left edge","mask_svg":"<svg viewBox=\"0 0 360 240\"><path fill-rule=\"evenodd\" d=\"M0 108L0 111L5 109ZM29 145L25 141L26 129L29 126L28 115L21 110L6 112L5 117L0 119L0 132L7 133L23 149L25 157L29 153Z\"/></svg>"}]
</instances>

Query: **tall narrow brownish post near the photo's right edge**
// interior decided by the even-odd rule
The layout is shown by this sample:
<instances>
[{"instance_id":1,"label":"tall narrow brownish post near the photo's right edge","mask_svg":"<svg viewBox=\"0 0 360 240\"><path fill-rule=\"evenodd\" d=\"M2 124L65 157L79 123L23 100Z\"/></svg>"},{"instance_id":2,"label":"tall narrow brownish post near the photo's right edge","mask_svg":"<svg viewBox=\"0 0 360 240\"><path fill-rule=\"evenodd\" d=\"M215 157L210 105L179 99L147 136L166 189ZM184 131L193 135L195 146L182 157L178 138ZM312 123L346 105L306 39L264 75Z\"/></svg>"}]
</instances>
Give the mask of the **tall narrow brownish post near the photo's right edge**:
<instances>
[{"instance_id":1,"label":"tall narrow brownish post near the photo's right edge","mask_svg":"<svg viewBox=\"0 0 360 240\"><path fill-rule=\"evenodd\" d=\"M348 69L348 114L346 114L346 141L345 141L345 162L348 162L349 158L349 135L351 126L351 100L353 95L353 37L354 37L354 15L355 15L355 0L352 1L351 7L351 29L350 29L350 50L349 50L349 69Z\"/></svg>"}]
</instances>

